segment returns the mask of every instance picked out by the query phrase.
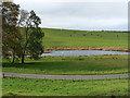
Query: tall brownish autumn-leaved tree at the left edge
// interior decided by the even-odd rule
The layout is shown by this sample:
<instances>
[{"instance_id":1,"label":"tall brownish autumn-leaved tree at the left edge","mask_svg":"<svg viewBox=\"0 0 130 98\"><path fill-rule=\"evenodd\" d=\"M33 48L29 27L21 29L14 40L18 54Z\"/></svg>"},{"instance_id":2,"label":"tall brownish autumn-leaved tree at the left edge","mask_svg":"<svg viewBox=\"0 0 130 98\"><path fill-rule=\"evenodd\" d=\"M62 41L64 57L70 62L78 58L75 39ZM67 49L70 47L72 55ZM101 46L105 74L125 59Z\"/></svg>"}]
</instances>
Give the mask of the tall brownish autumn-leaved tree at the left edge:
<instances>
[{"instance_id":1,"label":"tall brownish autumn-leaved tree at the left edge","mask_svg":"<svg viewBox=\"0 0 130 98\"><path fill-rule=\"evenodd\" d=\"M20 5L13 2L2 2L2 50L3 57L6 51L13 52L13 61L15 56L21 57L22 35L16 27L20 14Z\"/></svg>"}]
</instances>

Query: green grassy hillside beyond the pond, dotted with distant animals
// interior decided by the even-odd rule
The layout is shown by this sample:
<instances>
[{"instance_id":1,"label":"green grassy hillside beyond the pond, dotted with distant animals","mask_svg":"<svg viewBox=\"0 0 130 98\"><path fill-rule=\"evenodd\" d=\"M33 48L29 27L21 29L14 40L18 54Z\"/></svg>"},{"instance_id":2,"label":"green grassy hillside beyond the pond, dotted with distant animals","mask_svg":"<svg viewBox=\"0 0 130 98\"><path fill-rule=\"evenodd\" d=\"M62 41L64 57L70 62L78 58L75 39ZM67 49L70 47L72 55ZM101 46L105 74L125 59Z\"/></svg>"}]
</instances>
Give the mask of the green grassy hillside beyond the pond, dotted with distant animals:
<instances>
[{"instance_id":1,"label":"green grassy hillside beyond the pond, dotted with distant animals","mask_svg":"<svg viewBox=\"0 0 130 98\"><path fill-rule=\"evenodd\" d=\"M44 47L128 47L128 33L43 28Z\"/></svg>"}]
</instances>

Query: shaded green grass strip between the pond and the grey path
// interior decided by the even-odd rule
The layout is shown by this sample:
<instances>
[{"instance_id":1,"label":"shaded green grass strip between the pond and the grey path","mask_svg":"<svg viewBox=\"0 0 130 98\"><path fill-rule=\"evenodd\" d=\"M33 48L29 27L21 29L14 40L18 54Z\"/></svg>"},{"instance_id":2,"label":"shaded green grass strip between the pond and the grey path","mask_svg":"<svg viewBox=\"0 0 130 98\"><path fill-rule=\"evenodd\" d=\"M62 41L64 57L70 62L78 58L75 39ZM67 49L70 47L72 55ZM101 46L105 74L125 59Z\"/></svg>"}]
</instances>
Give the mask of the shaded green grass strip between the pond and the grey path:
<instances>
[{"instance_id":1,"label":"shaded green grass strip between the pond and the grey path","mask_svg":"<svg viewBox=\"0 0 130 98\"><path fill-rule=\"evenodd\" d=\"M26 59L25 64L4 61L2 71L47 75L128 73L128 56L44 57L38 61Z\"/></svg>"}]
</instances>

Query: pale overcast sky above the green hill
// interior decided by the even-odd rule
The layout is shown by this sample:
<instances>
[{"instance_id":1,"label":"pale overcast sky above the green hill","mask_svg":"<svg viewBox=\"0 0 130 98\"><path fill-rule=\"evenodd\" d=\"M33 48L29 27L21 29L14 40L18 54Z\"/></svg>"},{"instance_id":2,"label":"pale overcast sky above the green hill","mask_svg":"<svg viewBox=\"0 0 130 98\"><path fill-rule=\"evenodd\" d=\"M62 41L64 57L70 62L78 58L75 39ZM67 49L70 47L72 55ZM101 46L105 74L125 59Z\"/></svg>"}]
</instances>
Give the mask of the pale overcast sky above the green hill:
<instances>
[{"instance_id":1,"label":"pale overcast sky above the green hill","mask_svg":"<svg viewBox=\"0 0 130 98\"><path fill-rule=\"evenodd\" d=\"M127 0L14 0L34 10L41 27L84 30L127 30Z\"/></svg>"}]
</instances>

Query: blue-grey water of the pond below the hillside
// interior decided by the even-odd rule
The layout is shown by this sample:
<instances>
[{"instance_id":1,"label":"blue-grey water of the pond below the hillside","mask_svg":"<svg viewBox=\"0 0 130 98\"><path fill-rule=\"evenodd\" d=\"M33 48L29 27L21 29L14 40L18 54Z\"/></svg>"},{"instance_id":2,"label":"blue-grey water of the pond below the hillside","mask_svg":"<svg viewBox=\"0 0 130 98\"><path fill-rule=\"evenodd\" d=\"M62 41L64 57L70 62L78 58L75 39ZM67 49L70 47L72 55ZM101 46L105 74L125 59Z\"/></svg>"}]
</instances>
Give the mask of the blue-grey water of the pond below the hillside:
<instances>
[{"instance_id":1,"label":"blue-grey water of the pond below the hillside","mask_svg":"<svg viewBox=\"0 0 130 98\"><path fill-rule=\"evenodd\" d=\"M51 53L42 53L41 57L78 57L78 56L102 56L102 54L130 54L123 51L103 51L103 50L60 50Z\"/></svg>"}]
</instances>

